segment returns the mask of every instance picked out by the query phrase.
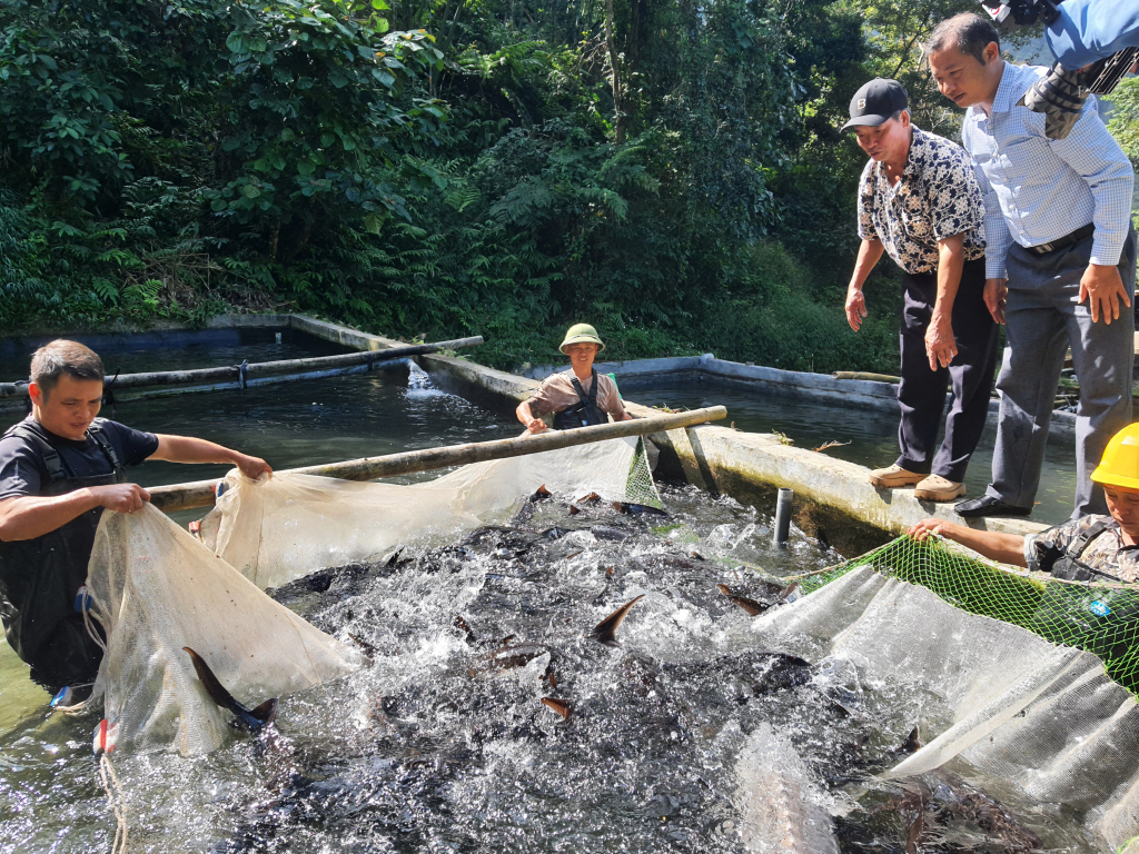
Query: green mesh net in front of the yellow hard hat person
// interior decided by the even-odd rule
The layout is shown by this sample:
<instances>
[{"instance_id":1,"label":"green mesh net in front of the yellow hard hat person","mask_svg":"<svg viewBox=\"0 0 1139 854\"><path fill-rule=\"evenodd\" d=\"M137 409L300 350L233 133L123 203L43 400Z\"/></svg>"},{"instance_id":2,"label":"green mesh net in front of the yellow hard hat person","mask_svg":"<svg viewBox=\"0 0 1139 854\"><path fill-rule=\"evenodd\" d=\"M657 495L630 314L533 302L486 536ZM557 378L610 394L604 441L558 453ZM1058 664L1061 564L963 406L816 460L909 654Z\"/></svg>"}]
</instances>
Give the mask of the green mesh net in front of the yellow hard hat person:
<instances>
[{"instance_id":1,"label":"green mesh net in front of the yellow hard hat person","mask_svg":"<svg viewBox=\"0 0 1139 854\"><path fill-rule=\"evenodd\" d=\"M1065 582L984 560L940 537L909 536L804 576L810 592L858 567L920 584L950 605L1027 629L1092 652L1107 674L1139 696L1139 590L1131 585Z\"/></svg>"}]
</instances>

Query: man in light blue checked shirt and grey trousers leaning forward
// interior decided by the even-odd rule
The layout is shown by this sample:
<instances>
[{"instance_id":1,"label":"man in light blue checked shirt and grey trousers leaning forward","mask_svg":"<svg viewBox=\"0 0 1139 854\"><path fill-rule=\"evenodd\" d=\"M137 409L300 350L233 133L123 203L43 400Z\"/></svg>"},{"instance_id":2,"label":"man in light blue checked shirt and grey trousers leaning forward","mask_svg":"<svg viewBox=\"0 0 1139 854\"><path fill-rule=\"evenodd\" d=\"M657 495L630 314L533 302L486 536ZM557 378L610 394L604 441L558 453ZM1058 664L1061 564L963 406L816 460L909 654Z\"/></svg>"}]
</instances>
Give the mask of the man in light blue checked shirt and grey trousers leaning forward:
<instances>
[{"instance_id":1,"label":"man in light blue checked shirt and grey trousers leaning forward","mask_svg":"<svg viewBox=\"0 0 1139 854\"><path fill-rule=\"evenodd\" d=\"M1000 58L995 27L964 14L926 46L941 93L967 107L961 139L985 195L985 303L1006 325L993 479L965 517L1032 512L1065 353L1080 380L1073 518L1105 512L1091 469L1131 422L1136 235L1131 163L1089 100L1063 140L1023 106L1047 68Z\"/></svg>"}]
</instances>

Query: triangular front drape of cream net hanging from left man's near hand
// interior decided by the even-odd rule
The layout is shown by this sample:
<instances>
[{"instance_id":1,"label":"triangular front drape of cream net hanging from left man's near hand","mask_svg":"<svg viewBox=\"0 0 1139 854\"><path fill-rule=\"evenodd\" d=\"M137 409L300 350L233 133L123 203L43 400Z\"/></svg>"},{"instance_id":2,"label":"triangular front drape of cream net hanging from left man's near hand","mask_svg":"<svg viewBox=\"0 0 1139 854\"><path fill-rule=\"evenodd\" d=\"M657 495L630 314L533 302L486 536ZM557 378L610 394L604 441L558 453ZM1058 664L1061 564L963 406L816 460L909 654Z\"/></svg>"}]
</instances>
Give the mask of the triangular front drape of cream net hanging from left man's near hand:
<instances>
[{"instance_id":1,"label":"triangular front drape of cream net hanging from left man's near hand","mask_svg":"<svg viewBox=\"0 0 1139 854\"><path fill-rule=\"evenodd\" d=\"M228 738L232 715L206 695L182 647L247 707L361 660L149 506L103 515L87 583L107 635L91 703L103 698L115 749L194 755Z\"/></svg>"}]
</instances>

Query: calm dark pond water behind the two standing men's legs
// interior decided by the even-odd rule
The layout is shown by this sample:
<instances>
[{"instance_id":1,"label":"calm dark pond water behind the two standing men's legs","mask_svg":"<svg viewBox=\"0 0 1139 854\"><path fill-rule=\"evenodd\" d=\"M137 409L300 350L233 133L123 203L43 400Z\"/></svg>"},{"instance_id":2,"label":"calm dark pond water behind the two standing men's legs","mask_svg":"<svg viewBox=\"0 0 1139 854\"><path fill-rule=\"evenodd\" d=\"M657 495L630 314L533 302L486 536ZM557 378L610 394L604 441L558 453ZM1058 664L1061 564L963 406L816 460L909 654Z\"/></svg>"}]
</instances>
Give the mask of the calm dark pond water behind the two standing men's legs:
<instances>
[{"instance_id":1,"label":"calm dark pond water behind the two standing men's legs","mask_svg":"<svg viewBox=\"0 0 1139 854\"><path fill-rule=\"evenodd\" d=\"M622 394L647 407L667 404L698 409L724 405L728 418L749 433L777 430L793 440L796 447L818 447L825 442L847 444L831 447L827 454L868 468L890 466L898 459L898 416L862 409L843 409L777 395L763 395L738 386L707 383L622 381ZM967 496L983 495L992 475L993 442L997 434L986 430L969 461L965 477ZM1075 451L1072 442L1049 443L1036 491L1036 506L1030 518L1056 525L1072 515L1075 500Z\"/></svg>"}]
</instances>

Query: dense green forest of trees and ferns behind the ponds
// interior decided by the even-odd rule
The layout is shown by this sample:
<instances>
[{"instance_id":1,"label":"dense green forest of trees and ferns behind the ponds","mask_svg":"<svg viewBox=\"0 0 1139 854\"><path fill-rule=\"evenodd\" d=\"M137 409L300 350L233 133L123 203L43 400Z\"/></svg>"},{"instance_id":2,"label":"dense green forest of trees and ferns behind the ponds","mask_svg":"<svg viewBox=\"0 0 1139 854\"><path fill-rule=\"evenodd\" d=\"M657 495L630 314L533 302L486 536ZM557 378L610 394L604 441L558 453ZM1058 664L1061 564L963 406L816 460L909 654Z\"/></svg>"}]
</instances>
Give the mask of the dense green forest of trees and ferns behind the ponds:
<instances>
[{"instance_id":1,"label":"dense green forest of trees and ferns behind the ponds","mask_svg":"<svg viewBox=\"0 0 1139 854\"><path fill-rule=\"evenodd\" d=\"M0 329L297 310L558 360L894 372L838 128L972 0L0 0ZM1139 156L1139 88L1112 129Z\"/></svg>"}]
</instances>

